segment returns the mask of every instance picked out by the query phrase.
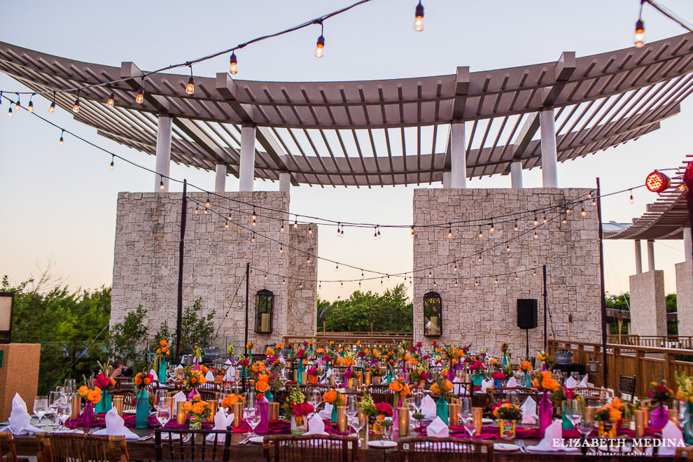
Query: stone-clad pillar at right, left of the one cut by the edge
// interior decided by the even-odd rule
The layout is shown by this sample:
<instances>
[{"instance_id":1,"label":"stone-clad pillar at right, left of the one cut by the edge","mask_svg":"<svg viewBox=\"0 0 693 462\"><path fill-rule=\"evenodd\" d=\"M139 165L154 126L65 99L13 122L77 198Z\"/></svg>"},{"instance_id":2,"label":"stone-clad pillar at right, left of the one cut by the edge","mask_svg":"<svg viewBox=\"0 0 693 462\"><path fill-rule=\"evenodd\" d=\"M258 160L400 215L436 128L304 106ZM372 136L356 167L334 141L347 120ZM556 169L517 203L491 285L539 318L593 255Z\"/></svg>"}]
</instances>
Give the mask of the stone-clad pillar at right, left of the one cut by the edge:
<instances>
[{"instance_id":1,"label":"stone-clad pillar at right, left of the one cut by the edge","mask_svg":"<svg viewBox=\"0 0 693 462\"><path fill-rule=\"evenodd\" d=\"M666 335L664 271L634 274L630 290L633 335Z\"/></svg>"}]
</instances>

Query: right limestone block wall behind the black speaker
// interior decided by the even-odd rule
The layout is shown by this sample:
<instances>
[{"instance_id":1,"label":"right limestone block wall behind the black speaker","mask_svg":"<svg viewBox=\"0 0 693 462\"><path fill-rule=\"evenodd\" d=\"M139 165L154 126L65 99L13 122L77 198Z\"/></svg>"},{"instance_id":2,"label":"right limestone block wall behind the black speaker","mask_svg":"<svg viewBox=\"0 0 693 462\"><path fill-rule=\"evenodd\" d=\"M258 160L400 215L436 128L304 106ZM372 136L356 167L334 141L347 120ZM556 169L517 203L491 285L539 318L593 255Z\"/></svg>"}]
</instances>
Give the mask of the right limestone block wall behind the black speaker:
<instances>
[{"instance_id":1,"label":"right limestone block wall behind the black speaker","mask_svg":"<svg viewBox=\"0 0 693 462\"><path fill-rule=\"evenodd\" d=\"M414 337L430 344L471 343L500 353L508 342L514 357L524 357L525 332L517 328L517 299L539 300L538 328L530 330L530 354L542 348L543 302L542 269L547 265L549 300L548 336L568 338L568 314L573 315L572 338L598 342L601 335L599 241L596 207L587 200L575 205L562 223L565 209L546 211L537 219L538 239L534 238L534 215L496 219L489 232L491 216L514 214L555 207L573 200L587 199L587 189L417 189L414 191L414 223L476 222L464 228L448 226L416 228L414 269L434 265L414 278ZM584 207L586 216L580 214ZM483 237L479 239L479 228ZM509 242L510 252L505 241ZM478 261L479 253L481 262ZM454 272L454 263L458 272ZM515 274L517 273L517 280ZM498 283L496 284L496 274ZM434 287L434 279L437 287ZM479 286L475 286L478 279ZM455 286L455 283L458 286ZM423 294L429 290L442 297L442 336L423 336Z\"/></svg>"}]
</instances>

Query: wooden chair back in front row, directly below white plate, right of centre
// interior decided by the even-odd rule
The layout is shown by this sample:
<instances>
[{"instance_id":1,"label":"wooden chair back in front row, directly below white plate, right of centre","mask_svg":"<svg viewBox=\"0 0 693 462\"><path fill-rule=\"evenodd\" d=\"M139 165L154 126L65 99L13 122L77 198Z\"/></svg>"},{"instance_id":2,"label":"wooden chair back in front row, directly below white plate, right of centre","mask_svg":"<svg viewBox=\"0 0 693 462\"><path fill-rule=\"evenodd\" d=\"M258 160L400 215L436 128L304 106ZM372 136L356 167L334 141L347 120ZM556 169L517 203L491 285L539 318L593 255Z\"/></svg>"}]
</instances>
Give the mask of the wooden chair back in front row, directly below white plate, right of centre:
<instances>
[{"instance_id":1,"label":"wooden chair back in front row, directly below white plate, right of centre","mask_svg":"<svg viewBox=\"0 0 693 462\"><path fill-rule=\"evenodd\" d=\"M493 461L493 442L460 438L407 437L397 441L399 462Z\"/></svg>"}]
</instances>

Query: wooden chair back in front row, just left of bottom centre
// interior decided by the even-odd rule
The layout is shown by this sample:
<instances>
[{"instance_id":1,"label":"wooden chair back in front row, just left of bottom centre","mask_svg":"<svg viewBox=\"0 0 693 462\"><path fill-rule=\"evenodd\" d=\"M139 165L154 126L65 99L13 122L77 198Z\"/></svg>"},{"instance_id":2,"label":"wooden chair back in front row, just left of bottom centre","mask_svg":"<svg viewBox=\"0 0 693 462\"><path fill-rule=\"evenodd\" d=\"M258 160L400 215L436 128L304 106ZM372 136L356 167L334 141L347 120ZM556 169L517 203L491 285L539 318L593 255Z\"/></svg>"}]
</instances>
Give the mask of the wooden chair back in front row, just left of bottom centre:
<instances>
[{"instance_id":1,"label":"wooden chair back in front row, just left of bottom centre","mask_svg":"<svg viewBox=\"0 0 693 462\"><path fill-rule=\"evenodd\" d=\"M267 435L262 449L264 460L268 462L358 461L358 437L355 436Z\"/></svg>"}]
</instances>

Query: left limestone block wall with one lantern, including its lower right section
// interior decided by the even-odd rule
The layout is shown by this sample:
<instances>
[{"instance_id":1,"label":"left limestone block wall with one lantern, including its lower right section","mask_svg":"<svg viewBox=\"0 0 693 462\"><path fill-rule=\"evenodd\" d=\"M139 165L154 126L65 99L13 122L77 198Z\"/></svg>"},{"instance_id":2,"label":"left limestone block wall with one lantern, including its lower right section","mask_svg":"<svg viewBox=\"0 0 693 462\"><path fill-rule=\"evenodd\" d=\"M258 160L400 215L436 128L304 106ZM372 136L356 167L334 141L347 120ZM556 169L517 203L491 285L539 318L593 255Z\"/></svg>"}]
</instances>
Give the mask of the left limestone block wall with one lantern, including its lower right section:
<instances>
[{"instance_id":1,"label":"left limestone block wall with one lantern, including its lower right section","mask_svg":"<svg viewBox=\"0 0 693 462\"><path fill-rule=\"evenodd\" d=\"M183 307L202 297L205 312L216 311L215 344L243 344L245 327L246 262L255 268L249 278L249 338L258 345L279 342L283 335L312 335L315 332L316 287L290 277L316 279L316 259L308 263L304 251L317 253L317 230L308 225L297 229L288 218L288 194L281 192L225 193L226 197L253 202L274 209L257 209L257 224L252 223L252 208L238 202L211 198L216 214L204 214L207 194L190 197L203 205L188 202L188 222L183 269ZM225 228L231 210L232 221ZM121 321L127 311L139 304L148 309L152 332L167 321L176 325L176 302L179 267L181 195L179 193L120 193L116 220L116 247L111 294L111 324ZM252 242L253 230L255 242ZM281 253L280 253L281 248ZM265 273L267 279L265 280ZM311 276L312 275L312 276ZM284 281L284 283L282 283ZM262 288L274 293L273 332L255 334L255 293ZM297 309L297 313L293 312ZM311 323L297 323L300 316L312 316ZM291 320L291 321L289 321ZM296 331L292 329L297 329Z\"/></svg>"}]
</instances>

